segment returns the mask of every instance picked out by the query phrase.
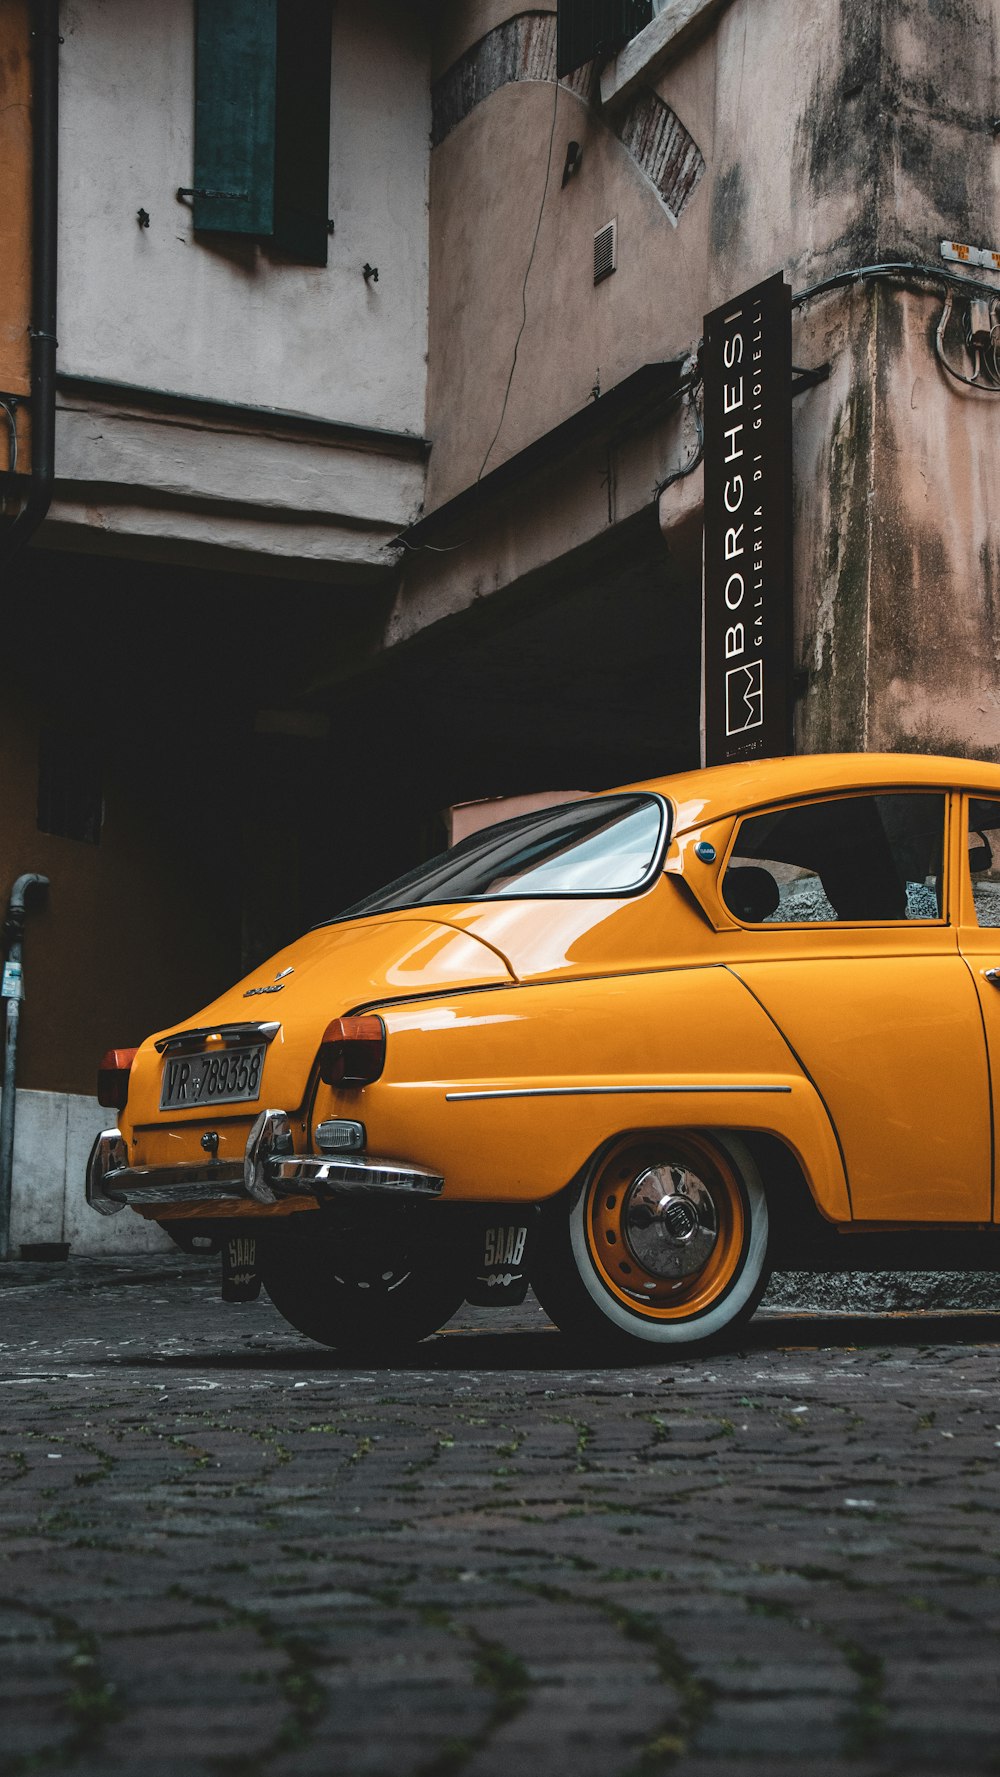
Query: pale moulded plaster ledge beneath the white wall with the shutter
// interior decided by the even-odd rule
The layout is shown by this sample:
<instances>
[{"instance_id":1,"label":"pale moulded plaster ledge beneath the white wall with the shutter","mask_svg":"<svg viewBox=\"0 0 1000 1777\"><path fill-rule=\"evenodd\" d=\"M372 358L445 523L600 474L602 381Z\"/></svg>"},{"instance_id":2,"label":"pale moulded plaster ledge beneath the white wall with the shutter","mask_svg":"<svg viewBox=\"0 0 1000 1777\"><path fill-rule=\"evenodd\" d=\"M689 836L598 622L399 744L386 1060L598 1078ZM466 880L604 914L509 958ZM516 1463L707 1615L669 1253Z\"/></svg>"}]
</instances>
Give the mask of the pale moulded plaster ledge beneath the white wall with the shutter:
<instances>
[{"instance_id":1,"label":"pale moulded plaster ledge beneath the white wall with the shutter","mask_svg":"<svg viewBox=\"0 0 1000 1777\"><path fill-rule=\"evenodd\" d=\"M359 585L391 576L425 455L409 437L62 382L44 542Z\"/></svg>"}]
</instances>

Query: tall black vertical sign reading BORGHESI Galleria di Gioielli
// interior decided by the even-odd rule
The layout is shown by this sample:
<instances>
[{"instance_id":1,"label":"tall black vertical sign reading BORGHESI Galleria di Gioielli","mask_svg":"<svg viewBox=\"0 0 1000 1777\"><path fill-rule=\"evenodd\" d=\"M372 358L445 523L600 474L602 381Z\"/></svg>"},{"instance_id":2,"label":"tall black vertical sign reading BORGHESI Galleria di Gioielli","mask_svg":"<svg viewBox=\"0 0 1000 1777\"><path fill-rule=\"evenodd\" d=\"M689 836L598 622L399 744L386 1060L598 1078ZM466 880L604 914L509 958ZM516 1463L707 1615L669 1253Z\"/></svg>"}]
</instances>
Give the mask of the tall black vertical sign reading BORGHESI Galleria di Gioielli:
<instances>
[{"instance_id":1,"label":"tall black vertical sign reading BORGHESI Galleria di Gioielli","mask_svg":"<svg viewBox=\"0 0 1000 1777\"><path fill-rule=\"evenodd\" d=\"M790 752L792 291L705 316L705 764Z\"/></svg>"}]
</instances>

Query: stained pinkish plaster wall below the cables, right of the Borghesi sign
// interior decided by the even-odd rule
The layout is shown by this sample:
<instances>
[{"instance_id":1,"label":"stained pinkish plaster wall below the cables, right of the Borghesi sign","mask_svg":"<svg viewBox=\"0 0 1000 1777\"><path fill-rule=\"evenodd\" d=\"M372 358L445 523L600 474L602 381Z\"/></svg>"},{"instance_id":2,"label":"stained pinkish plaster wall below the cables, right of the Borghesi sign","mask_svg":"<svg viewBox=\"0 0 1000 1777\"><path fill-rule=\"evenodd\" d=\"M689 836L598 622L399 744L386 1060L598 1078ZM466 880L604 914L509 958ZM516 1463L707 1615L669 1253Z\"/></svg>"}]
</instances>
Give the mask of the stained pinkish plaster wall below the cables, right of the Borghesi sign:
<instances>
[{"instance_id":1,"label":"stained pinkish plaster wall below the cables, right of the Borghesi sign","mask_svg":"<svg viewBox=\"0 0 1000 1777\"><path fill-rule=\"evenodd\" d=\"M941 370L941 306L872 283L798 318L831 361L794 410L803 750L1000 757L1000 393ZM970 373L961 291L947 348Z\"/></svg>"}]
</instances>

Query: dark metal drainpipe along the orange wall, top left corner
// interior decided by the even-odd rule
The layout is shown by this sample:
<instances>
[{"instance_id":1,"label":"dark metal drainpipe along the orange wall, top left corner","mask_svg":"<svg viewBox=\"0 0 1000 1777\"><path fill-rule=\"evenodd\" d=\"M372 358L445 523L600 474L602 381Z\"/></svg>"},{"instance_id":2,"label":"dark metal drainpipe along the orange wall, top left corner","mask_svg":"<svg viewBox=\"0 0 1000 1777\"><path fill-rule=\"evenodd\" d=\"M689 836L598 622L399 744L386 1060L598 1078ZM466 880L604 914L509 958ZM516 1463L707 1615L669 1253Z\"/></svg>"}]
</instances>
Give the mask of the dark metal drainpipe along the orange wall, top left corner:
<instances>
[{"instance_id":1,"label":"dark metal drainpipe along the orange wall, top left corner","mask_svg":"<svg viewBox=\"0 0 1000 1777\"><path fill-rule=\"evenodd\" d=\"M59 0L32 0L32 473L18 517L0 533L9 567L52 501L55 473L55 274L59 240ZM11 483L7 483L11 485Z\"/></svg>"}]
</instances>

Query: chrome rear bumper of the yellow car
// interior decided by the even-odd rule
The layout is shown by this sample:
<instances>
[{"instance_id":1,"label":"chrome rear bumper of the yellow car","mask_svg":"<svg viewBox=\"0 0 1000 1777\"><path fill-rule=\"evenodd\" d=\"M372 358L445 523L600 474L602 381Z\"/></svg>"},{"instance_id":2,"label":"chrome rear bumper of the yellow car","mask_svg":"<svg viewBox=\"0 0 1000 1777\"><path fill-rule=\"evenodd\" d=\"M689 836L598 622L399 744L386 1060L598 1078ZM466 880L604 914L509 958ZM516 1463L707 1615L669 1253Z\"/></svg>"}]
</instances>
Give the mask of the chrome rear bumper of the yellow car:
<instances>
[{"instance_id":1,"label":"chrome rear bumper of the yellow car","mask_svg":"<svg viewBox=\"0 0 1000 1777\"><path fill-rule=\"evenodd\" d=\"M423 1166L353 1153L291 1153L284 1111L261 1111L242 1160L183 1160L174 1166L130 1166L117 1128L98 1136L87 1162L87 1203L101 1215L147 1203L258 1203L341 1194L437 1198L444 1178Z\"/></svg>"}]
</instances>

